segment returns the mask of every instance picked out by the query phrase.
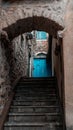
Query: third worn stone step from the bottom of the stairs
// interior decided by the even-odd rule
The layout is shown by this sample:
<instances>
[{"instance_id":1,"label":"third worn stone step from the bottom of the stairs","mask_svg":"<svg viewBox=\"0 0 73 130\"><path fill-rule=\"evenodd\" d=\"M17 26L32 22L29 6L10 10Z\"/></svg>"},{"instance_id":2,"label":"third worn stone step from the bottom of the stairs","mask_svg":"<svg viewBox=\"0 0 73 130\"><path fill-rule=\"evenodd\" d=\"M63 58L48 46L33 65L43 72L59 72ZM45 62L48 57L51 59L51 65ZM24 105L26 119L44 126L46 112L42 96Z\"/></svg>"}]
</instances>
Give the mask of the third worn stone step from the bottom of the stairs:
<instances>
[{"instance_id":1,"label":"third worn stone step from the bottom of the stairs","mask_svg":"<svg viewBox=\"0 0 73 130\"><path fill-rule=\"evenodd\" d=\"M59 106L11 106L10 112L20 112L20 113L55 113L60 112Z\"/></svg>"}]
</instances>

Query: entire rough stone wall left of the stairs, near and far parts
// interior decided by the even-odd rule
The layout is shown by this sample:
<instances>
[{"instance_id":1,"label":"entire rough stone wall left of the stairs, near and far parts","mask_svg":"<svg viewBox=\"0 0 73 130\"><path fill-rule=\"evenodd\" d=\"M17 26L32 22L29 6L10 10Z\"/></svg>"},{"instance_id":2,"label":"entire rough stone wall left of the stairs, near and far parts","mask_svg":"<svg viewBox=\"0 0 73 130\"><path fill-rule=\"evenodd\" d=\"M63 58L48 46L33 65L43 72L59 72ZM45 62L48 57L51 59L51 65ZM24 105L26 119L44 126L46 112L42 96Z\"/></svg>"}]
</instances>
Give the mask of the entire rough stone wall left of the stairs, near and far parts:
<instances>
[{"instance_id":1,"label":"entire rough stone wall left of the stairs, near and far parts","mask_svg":"<svg viewBox=\"0 0 73 130\"><path fill-rule=\"evenodd\" d=\"M21 35L12 42L6 37L0 39L0 114L12 86L20 77L28 75L28 45L24 34L21 39Z\"/></svg>"}]
</instances>

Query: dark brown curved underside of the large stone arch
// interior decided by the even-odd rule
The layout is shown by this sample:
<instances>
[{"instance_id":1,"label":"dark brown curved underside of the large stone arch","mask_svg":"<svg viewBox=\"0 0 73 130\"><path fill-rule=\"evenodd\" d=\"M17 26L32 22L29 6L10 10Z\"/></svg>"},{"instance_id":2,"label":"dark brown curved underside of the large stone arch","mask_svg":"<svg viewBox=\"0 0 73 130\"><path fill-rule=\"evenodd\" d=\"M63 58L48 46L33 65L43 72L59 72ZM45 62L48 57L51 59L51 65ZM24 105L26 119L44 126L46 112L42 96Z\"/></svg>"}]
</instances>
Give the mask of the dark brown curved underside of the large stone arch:
<instances>
[{"instance_id":1,"label":"dark brown curved underside of the large stone arch","mask_svg":"<svg viewBox=\"0 0 73 130\"><path fill-rule=\"evenodd\" d=\"M56 23L55 21L44 18L44 17L28 17L24 19L19 19L15 23L3 28L7 32L10 40L17 37L25 32L30 32L32 30L43 30L49 34L56 36L57 31L62 30L63 27Z\"/></svg>"}]
</instances>

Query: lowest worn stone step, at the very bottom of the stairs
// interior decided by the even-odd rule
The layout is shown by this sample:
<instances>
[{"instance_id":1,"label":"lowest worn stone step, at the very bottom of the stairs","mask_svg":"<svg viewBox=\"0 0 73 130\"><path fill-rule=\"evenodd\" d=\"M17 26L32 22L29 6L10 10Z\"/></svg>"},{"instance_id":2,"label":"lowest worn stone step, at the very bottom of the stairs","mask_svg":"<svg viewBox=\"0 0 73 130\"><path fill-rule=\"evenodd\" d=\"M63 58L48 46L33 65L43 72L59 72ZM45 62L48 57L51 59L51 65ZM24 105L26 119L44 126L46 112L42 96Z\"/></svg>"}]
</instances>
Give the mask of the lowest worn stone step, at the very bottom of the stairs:
<instances>
[{"instance_id":1,"label":"lowest worn stone step, at the very bottom of the stairs","mask_svg":"<svg viewBox=\"0 0 73 130\"><path fill-rule=\"evenodd\" d=\"M62 124L59 122L44 123L6 123L4 130L62 130Z\"/></svg>"}]
</instances>

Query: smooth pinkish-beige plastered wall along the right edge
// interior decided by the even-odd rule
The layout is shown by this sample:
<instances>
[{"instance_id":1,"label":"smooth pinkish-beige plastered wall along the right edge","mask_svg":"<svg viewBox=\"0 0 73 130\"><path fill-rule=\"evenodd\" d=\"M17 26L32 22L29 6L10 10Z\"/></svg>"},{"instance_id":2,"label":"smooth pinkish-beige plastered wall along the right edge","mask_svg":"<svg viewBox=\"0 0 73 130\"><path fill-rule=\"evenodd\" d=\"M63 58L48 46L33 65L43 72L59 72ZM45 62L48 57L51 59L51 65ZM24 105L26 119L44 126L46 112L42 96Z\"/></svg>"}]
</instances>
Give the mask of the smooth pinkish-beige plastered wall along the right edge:
<instances>
[{"instance_id":1,"label":"smooth pinkish-beige plastered wall along the right edge","mask_svg":"<svg viewBox=\"0 0 73 130\"><path fill-rule=\"evenodd\" d=\"M63 35L67 130L73 130L73 1L68 0Z\"/></svg>"}]
</instances>

